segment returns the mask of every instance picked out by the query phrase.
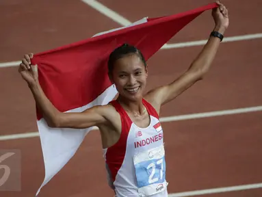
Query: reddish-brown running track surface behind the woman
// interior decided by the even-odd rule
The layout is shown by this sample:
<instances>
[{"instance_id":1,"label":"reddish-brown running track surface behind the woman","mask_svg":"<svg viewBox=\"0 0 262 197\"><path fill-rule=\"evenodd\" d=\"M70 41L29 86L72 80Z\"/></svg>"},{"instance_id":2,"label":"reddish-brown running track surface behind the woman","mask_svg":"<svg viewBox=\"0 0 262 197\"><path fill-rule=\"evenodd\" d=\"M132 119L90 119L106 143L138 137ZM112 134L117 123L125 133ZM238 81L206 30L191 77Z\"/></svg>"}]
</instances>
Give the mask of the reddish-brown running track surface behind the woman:
<instances>
[{"instance_id":1,"label":"reddish-brown running track surface behind the woman","mask_svg":"<svg viewBox=\"0 0 262 197\"><path fill-rule=\"evenodd\" d=\"M34 101L14 61L21 60L24 53L79 41L144 16L174 14L212 1L99 2L120 15L114 17L96 1L92 5L80 0L1 1L0 148L21 150L22 188L21 192L0 192L0 196L34 196L44 179L39 137L23 134L25 138L8 140L13 134L37 131ZM193 119L183 116L182 120L174 121L173 117L163 122L170 196L262 196L262 1L237 2L240 1L223 1L231 20L225 36L232 42L221 44L209 75L161 111L161 117L176 119L179 115L211 112L197 114ZM200 15L168 44L207 39L213 28L210 14ZM169 45L179 48L161 49L148 61L148 89L172 81L189 66L202 48L192 44ZM254 108L243 113L251 109L247 107ZM222 111L228 109L239 110L229 115ZM215 116L213 111L222 112ZM203 193L202 189L211 190ZM205 192L208 194L200 195ZM113 196L107 187L98 132L92 131L86 137L75 157L43 187L39 196Z\"/></svg>"}]
</instances>

